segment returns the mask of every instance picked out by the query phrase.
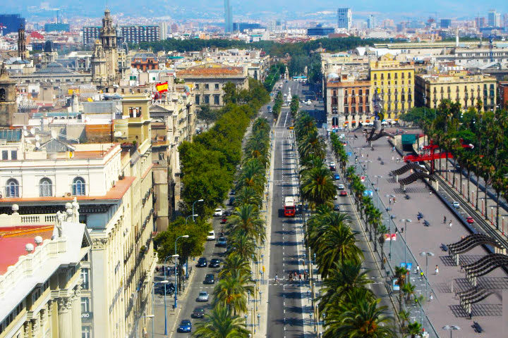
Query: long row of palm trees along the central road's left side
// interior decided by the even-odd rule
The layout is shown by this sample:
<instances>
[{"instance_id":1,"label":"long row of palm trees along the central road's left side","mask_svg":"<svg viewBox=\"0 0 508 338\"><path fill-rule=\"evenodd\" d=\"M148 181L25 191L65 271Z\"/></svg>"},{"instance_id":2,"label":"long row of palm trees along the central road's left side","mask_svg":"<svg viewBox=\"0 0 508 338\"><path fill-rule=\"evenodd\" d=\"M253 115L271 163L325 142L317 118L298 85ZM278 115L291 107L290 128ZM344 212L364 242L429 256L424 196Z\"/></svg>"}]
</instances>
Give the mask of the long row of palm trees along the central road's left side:
<instances>
[{"instance_id":1,"label":"long row of palm trees along the central road's left side","mask_svg":"<svg viewBox=\"0 0 508 338\"><path fill-rule=\"evenodd\" d=\"M261 218L262 194L270 163L270 125L264 118L253 123L252 134L244 147L241 170L236 183L233 215L226 225L229 254L219 273L213 292L213 309L198 324L193 336L201 338L247 338L249 330L241 317L248 312L248 295L256 285L251 266L258 242L265 240Z\"/></svg>"}]
</instances>

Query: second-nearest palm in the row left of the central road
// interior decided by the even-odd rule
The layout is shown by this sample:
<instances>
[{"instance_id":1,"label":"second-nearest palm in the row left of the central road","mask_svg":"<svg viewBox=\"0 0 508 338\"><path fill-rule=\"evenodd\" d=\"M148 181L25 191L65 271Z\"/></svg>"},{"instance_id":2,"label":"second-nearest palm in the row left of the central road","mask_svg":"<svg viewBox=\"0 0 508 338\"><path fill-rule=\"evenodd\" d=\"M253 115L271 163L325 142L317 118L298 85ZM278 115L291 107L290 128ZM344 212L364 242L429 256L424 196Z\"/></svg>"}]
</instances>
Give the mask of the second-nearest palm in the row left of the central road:
<instances>
[{"instance_id":1,"label":"second-nearest palm in the row left of the central road","mask_svg":"<svg viewBox=\"0 0 508 338\"><path fill-rule=\"evenodd\" d=\"M228 310L237 313L247 311L247 292L254 293L250 276L226 276L219 280L214 289L214 305L226 306Z\"/></svg>"}]
</instances>

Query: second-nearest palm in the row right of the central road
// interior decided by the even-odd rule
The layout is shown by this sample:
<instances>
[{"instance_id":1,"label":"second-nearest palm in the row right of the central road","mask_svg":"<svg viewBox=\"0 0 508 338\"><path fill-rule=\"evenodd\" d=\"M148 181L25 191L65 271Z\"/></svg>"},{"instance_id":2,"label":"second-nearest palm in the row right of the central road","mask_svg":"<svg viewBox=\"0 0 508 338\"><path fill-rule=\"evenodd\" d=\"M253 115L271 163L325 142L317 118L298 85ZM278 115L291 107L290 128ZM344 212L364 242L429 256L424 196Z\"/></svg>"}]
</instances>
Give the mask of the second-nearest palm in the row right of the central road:
<instances>
[{"instance_id":1,"label":"second-nearest palm in the row right of the central road","mask_svg":"<svg viewBox=\"0 0 508 338\"><path fill-rule=\"evenodd\" d=\"M367 277L368 270L362 271L362 264L352 261L339 261L334 263L334 268L323 280L323 287L320 291L320 312L326 312L327 308L336 306L345 294L352 289L365 287L372 283ZM370 290L368 290L370 292Z\"/></svg>"}]
</instances>

